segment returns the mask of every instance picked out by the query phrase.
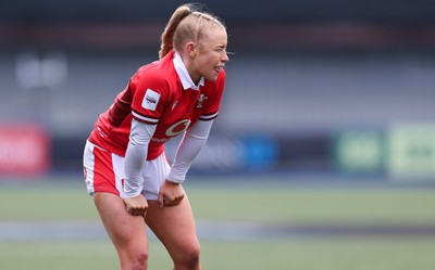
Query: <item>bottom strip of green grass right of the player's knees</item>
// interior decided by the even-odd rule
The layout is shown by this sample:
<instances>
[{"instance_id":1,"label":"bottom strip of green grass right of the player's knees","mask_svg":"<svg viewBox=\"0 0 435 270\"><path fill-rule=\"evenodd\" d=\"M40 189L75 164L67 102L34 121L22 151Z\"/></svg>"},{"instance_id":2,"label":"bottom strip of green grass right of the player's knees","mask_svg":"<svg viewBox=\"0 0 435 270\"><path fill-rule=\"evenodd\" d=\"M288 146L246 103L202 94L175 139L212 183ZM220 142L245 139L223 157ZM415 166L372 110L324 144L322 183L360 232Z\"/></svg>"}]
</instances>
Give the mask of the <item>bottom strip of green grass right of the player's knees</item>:
<instances>
[{"instance_id":1,"label":"bottom strip of green grass right of the player's knees","mask_svg":"<svg viewBox=\"0 0 435 270\"><path fill-rule=\"evenodd\" d=\"M213 243L204 269L430 270L435 240L315 239ZM214 256L214 255L220 256Z\"/></svg>"}]
</instances>

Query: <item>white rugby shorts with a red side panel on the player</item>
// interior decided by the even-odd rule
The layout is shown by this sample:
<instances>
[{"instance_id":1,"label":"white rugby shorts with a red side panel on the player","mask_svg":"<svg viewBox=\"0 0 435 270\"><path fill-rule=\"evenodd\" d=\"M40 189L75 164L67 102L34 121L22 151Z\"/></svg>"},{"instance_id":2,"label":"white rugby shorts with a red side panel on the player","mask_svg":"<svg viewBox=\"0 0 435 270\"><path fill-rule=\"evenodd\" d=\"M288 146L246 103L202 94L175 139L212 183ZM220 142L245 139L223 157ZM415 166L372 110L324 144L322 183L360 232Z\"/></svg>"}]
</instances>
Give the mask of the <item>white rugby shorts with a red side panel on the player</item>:
<instances>
[{"instance_id":1,"label":"white rugby shorts with a red side panel on the player","mask_svg":"<svg viewBox=\"0 0 435 270\"><path fill-rule=\"evenodd\" d=\"M109 192L123 197L125 157L110 153L87 141L83 156L85 182L88 193ZM160 187L166 180L171 166L165 154L147 160L144 166L142 194L147 200L159 198Z\"/></svg>"}]
</instances>

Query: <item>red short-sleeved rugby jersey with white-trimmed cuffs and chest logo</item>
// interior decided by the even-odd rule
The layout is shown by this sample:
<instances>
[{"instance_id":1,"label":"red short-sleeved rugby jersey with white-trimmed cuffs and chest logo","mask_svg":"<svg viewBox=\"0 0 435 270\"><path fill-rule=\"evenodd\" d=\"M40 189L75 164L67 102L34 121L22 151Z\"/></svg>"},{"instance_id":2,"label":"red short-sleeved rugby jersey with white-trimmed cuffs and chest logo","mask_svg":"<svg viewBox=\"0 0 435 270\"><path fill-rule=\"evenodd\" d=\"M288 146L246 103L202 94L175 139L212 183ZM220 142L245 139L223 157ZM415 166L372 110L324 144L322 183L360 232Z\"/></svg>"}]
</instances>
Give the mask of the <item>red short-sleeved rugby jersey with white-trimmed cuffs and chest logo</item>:
<instances>
[{"instance_id":1,"label":"red short-sleeved rugby jersey with white-trimmed cuffs and chest logo","mask_svg":"<svg viewBox=\"0 0 435 270\"><path fill-rule=\"evenodd\" d=\"M225 72L222 69L215 81L204 80L199 90L185 90L173 57L174 51L140 67L109 110L99 116L88 140L125 156L134 117L157 125L148 146L147 159L150 160L163 153L165 142L198 119L214 119L224 91Z\"/></svg>"}]
</instances>

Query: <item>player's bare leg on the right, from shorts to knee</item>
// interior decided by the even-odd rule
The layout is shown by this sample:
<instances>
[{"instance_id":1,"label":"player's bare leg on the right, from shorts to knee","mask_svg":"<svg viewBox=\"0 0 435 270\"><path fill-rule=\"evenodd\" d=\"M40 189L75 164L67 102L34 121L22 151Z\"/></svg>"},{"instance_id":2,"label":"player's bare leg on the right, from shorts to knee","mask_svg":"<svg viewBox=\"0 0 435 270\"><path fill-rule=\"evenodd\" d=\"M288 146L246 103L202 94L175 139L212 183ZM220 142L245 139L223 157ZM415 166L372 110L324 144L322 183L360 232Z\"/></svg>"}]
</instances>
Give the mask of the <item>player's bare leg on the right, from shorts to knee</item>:
<instances>
[{"instance_id":1,"label":"player's bare leg on the right, from shorts to knee","mask_svg":"<svg viewBox=\"0 0 435 270\"><path fill-rule=\"evenodd\" d=\"M148 201L146 222L166 247L175 270L200 270L200 246L187 196L177 206Z\"/></svg>"}]
</instances>

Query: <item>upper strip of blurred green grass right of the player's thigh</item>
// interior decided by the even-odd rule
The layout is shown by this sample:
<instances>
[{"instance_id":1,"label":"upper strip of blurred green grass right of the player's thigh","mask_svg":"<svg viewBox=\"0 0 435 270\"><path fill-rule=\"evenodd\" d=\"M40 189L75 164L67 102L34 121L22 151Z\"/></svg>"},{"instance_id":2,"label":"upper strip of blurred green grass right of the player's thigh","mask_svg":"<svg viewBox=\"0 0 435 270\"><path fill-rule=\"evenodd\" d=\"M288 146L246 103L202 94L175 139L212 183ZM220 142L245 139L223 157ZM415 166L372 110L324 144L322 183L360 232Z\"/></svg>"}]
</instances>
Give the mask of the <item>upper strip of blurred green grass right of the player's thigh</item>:
<instances>
[{"instance_id":1,"label":"upper strip of blurred green grass right of the player's thigh","mask_svg":"<svg viewBox=\"0 0 435 270\"><path fill-rule=\"evenodd\" d=\"M435 224L435 190L210 188L189 197L196 216L209 220Z\"/></svg>"}]
</instances>

